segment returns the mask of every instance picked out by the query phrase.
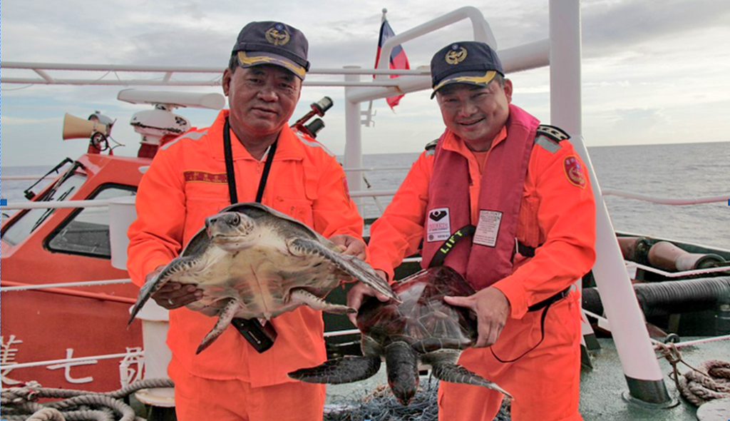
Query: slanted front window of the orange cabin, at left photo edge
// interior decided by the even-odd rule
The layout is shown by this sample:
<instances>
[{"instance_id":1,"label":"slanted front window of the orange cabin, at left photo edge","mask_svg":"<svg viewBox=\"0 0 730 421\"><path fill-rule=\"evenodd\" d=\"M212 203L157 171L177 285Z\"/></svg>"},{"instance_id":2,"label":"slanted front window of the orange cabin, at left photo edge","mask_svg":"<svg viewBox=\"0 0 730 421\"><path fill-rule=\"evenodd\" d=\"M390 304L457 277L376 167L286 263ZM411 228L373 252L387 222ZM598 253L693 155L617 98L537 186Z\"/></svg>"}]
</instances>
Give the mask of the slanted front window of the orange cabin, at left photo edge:
<instances>
[{"instance_id":1,"label":"slanted front window of the orange cabin, at left photo edge","mask_svg":"<svg viewBox=\"0 0 730 421\"><path fill-rule=\"evenodd\" d=\"M86 175L74 174L66 178L58 186L52 187L44 193L43 200L69 200L81 185L86 181ZM7 227L2 233L2 239L15 246L20 244L34 232L37 227L46 221L56 209L30 209ZM23 211L21 211L23 212Z\"/></svg>"}]
</instances>

